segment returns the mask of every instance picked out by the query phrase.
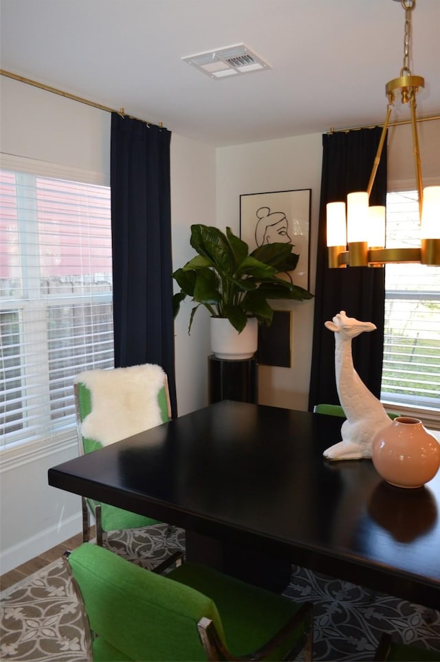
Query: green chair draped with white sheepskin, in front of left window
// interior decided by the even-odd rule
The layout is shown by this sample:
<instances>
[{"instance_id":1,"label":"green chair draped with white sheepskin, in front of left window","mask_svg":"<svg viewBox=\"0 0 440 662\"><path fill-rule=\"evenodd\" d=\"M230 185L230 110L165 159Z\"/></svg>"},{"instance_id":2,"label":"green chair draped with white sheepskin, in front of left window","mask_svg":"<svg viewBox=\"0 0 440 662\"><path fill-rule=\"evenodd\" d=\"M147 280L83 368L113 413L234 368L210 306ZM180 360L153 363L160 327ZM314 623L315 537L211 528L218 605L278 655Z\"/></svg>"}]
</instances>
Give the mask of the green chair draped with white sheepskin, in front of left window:
<instances>
[{"instance_id":1,"label":"green chair draped with white sheepskin, in front of left window","mask_svg":"<svg viewBox=\"0 0 440 662\"><path fill-rule=\"evenodd\" d=\"M149 371L149 368L152 368L153 372ZM139 390L140 384L141 388L144 388L142 385L142 379L144 379L144 376L147 379L149 375L152 375L152 380L154 381L153 384L151 384L151 388L149 388L149 390L145 390L145 396L141 395L141 401L143 401L143 404L151 405L151 418L153 419L153 423L156 425L159 423L164 423L170 419L168 380L166 378L166 374L159 366L145 364L144 366L116 368L115 370L86 371L75 377L74 393L76 421L78 429L78 445L81 455L99 450L103 445L105 445L106 440L104 438L101 437L100 440L98 440L96 438L89 438L83 434L85 419L91 415L94 406L98 406L99 400L106 397L105 386L104 389L98 388L98 386L96 386L96 384L102 384L102 379L111 379L113 382L115 382L113 386L118 389L118 395L116 395L117 402L113 402L113 404L111 403L109 407L110 409L118 409L119 420L122 419L120 434L115 432L115 437L124 439L124 437L131 436L130 434L126 434L126 430L130 430L131 434L135 434L135 432L141 432L144 429L146 430L148 427L152 427L150 424L151 421L148 421L148 417L144 419L143 423L140 421L138 429L130 428L130 421L128 427L124 426L124 408L127 408L127 403L133 403L133 393L131 393L131 390ZM122 377L120 384L118 384L119 377ZM126 379L127 377L131 377L131 379ZM97 379L100 381L97 382ZM111 397L113 397L113 399L115 397L114 390L113 395L109 395L109 399ZM154 399L153 404L148 402L150 397ZM134 399L134 402L137 404L136 399ZM133 412L127 410L126 417L133 421ZM100 434L105 436L105 434L108 434L108 430L107 432L104 431L100 433L99 423L100 421L98 419L98 422L94 425L94 432L98 432L98 434L96 434L97 437L100 437ZM115 427L117 427L116 424ZM113 439L113 441L115 441L115 439ZM82 508L83 540L85 542L89 540L89 515L92 514L95 520L96 542L100 546L102 546L103 537L108 531L137 529L159 523L153 518L137 515L115 506L106 503L100 503L96 500L85 497L82 498Z\"/></svg>"}]
</instances>

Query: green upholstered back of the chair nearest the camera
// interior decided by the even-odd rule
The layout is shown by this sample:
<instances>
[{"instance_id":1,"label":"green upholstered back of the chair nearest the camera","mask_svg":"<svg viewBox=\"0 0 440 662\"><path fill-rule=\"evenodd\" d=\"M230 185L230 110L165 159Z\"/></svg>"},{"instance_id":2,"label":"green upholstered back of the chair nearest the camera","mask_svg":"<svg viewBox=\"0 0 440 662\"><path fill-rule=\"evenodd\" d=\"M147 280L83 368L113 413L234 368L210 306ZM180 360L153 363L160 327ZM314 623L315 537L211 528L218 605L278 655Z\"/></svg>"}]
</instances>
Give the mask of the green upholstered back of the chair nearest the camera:
<instances>
[{"instance_id":1,"label":"green upholstered back of the chair nearest the camera","mask_svg":"<svg viewBox=\"0 0 440 662\"><path fill-rule=\"evenodd\" d=\"M212 619L212 599L166 575L148 572L107 549L84 543L69 555L91 630L93 659L206 660L197 624Z\"/></svg>"}]
</instances>

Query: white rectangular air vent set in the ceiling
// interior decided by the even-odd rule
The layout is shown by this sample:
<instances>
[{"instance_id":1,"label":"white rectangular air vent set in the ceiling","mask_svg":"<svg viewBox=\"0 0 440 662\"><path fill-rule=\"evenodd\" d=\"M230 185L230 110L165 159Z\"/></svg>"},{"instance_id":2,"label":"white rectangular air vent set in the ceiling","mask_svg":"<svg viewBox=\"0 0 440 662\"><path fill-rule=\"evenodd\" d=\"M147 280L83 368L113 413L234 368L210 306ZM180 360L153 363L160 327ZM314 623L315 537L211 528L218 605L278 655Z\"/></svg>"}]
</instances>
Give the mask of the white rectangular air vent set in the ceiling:
<instances>
[{"instance_id":1,"label":"white rectangular air vent set in the ceiling","mask_svg":"<svg viewBox=\"0 0 440 662\"><path fill-rule=\"evenodd\" d=\"M270 65L250 50L245 44L218 48L206 53L197 53L181 58L189 65L203 71L211 78L226 78L236 74L270 69Z\"/></svg>"}]
</instances>

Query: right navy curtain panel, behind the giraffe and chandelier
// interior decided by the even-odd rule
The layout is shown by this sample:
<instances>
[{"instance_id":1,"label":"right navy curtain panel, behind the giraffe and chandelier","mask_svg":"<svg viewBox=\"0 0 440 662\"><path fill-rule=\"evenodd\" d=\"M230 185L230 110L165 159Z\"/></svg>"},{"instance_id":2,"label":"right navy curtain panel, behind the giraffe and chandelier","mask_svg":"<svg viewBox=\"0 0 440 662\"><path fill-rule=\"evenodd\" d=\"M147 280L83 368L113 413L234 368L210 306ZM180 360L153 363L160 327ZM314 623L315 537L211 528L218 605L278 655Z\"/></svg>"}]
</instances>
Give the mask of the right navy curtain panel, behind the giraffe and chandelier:
<instances>
[{"instance_id":1,"label":"right navy curtain panel, behind the giraffe and chandelier","mask_svg":"<svg viewBox=\"0 0 440 662\"><path fill-rule=\"evenodd\" d=\"M326 245L326 204L347 201L347 193L366 190L382 129L360 129L322 136L322 178L314 312L309 411L315 404L338 404L335 380L335 338L324 322L344 310L349 317L373 322L376 331L352 342L353 364L362 382L380 396L384 353L385 269L329 269ZM386 148L370 196L371 205L386 204Z\"/></svg>"}]
</instances>

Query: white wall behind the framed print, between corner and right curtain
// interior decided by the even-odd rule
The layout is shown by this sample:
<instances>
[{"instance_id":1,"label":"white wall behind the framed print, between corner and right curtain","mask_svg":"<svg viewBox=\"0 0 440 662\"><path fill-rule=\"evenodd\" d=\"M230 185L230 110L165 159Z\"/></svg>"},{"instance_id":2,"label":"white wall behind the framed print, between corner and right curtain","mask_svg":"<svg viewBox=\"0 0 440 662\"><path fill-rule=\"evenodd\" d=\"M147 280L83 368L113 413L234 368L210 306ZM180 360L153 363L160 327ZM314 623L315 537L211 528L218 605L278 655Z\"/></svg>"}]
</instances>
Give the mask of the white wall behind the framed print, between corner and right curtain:
<instances>
[{"instance_id":1,"label":"white wall behind the framed print, between corner and right curtain","mask_svg":"<svg viewBox=\"0 0 440 662\"><path fill-rule=\"evenodd\" d=\"M311 282L316 271L322 138L303 135L217 150L217 225L239 234L240 195L311 188ZM292 367L259 366L259 402L307 409L314 301L274 302L292 309Z\"/></svg>"}]
</instances>

